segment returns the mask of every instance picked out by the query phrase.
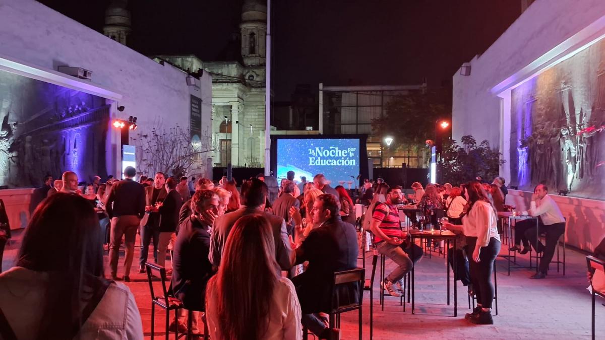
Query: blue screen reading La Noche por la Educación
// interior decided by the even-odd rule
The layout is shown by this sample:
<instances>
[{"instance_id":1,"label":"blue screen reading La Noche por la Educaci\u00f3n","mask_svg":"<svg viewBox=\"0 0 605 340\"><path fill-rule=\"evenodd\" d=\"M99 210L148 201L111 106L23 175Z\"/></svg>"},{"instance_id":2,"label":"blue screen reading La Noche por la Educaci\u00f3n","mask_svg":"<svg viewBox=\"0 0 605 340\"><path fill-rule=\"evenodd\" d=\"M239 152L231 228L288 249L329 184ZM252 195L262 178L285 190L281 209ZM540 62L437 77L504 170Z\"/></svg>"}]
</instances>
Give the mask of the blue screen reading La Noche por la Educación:
<instances>
[{"instance_id":1,"label":"blue screen reading La Noche por la Educaci\u00f3n","mask_svg":"<svg viewBox=\"0 0 605 340\"><path fill-rule=\"evenodd\" d=\"M294 171L295 180L301 176L312 181L316 174L324 174L332 188L348 182L355 186L359 175L359 139L278 139L277 177L286 178Z\"/></svg>"}]
</instances>

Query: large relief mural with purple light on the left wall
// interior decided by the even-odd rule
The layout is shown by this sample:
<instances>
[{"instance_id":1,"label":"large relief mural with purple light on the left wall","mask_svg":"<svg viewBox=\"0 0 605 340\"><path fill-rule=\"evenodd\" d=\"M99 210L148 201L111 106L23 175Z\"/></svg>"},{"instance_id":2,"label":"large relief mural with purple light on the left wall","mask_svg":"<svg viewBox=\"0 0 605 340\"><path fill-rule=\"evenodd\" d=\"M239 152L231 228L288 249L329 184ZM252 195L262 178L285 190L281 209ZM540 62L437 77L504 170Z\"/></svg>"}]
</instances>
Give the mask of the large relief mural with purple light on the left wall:
<instances>
[{"instance_id":1,"label":"large relief mural with purple light on the left wall","mask_svg":"<svg viewBox=\"0 0 605 340\"><path fill-rule=\"evenodd\" d=\"M0 186L39 186L45 175L106 175L105 99L0 71Z\"/></svg>"}]
</instances>

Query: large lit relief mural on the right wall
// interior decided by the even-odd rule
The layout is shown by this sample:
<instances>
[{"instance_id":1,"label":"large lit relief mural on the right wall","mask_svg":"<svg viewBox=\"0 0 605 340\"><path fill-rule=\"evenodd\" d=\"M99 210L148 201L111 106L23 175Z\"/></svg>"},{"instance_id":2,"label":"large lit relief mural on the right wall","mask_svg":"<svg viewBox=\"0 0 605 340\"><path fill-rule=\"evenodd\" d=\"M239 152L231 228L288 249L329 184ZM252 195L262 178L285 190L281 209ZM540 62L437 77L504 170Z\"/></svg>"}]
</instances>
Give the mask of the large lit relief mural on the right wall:
<instances>
[{"instance_id":1,"label":"large lit relief mural on the right wall","mask_svg":"<svg viewBox=\"0 0 605 340\"><path fill-rule=\"evenodd\" d=\"M605 42L512 90L511 185L605 199Z\"/></svg>"}]
</instances>

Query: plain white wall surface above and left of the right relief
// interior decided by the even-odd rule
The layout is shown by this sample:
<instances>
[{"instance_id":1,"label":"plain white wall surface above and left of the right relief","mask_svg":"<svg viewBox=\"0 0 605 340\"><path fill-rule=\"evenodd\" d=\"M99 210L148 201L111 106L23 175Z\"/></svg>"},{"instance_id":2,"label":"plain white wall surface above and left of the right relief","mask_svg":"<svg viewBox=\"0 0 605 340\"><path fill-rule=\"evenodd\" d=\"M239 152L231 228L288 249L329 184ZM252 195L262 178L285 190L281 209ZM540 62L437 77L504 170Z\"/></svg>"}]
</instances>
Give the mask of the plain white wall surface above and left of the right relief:
<instances>
[{"instance_id":1,"label":"plain white wall surface above and left of the right relief","mask_svg":"<svg viewBox=\"0 0 605 340\"><path fill-rule=\"evenodd\" d=\"M492 88L603 15L602 0L535 1L485 53L470 60L470 76L454 74L454 139L472 134L499 146L500 103Z\"/></svg>"}]
</instances>

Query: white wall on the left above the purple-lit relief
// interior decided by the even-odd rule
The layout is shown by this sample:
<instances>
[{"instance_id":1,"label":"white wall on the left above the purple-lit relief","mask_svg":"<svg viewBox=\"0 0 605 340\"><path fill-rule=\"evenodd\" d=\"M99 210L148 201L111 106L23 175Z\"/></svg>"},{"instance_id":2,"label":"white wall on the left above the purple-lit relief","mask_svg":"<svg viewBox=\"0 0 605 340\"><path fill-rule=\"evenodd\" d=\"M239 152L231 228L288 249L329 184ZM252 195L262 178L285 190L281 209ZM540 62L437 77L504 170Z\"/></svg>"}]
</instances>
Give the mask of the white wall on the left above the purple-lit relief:
<instances>
[{"instance_id":1,"label":"white wall on the left above the purple-lit relief","mask_svg":"<svg viewBox=\"0 0 605 340\"><path fill-rule=\"evenodd\" d=\"M112 106L112 115L138 117L137 131L148 131L158 119L166 127L188 128L190 94L203 100L202 130L210 125L211 76L204 74L199 88L189 87L186 74L177 68L157 64L39 2L0 0L0 54L46 69L69 65L92 71L92 83L123 95ZM126 110L119 113L117 105ZM112 140L116 143L119 137Z\"/></svg>"}]
</instances>

